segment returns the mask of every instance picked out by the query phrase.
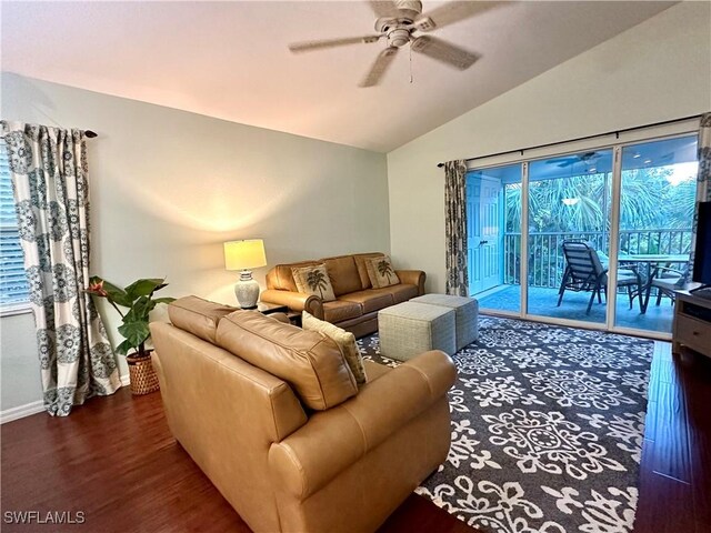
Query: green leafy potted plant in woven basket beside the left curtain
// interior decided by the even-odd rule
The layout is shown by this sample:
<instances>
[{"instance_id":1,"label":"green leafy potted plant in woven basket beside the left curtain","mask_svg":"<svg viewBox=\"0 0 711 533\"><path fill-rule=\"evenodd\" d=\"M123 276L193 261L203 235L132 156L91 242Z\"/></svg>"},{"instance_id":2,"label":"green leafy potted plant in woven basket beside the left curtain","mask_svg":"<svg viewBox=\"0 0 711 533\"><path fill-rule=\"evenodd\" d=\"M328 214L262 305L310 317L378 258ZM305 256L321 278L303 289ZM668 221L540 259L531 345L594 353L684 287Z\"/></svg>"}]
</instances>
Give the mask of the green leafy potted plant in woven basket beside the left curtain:
<instances>
[{"instance_id":1,"label":"green leafy potted plant in woven basket beside the left curtain","mask_svg":"<svg viewBox=\"0 0 711 533\"><path fill-rule=\"evenodd\" d=\"M151 364L151 351L146 349L146 342L151 336L148 328L150 312L159 303L170 303L176 300L174 298L153 298L156 291L168 285L164 281L164 278L141 279L121 289L98 275L89 279L87 292L106 298L121 315L123 323L119 326L119 333L123 335L123 342L117 346L116 351L126 355L132 394L148 394L159 388L158 376ZM121 311L120 308L126 308L127 311Z\"/></svg>"}]
</instances>

